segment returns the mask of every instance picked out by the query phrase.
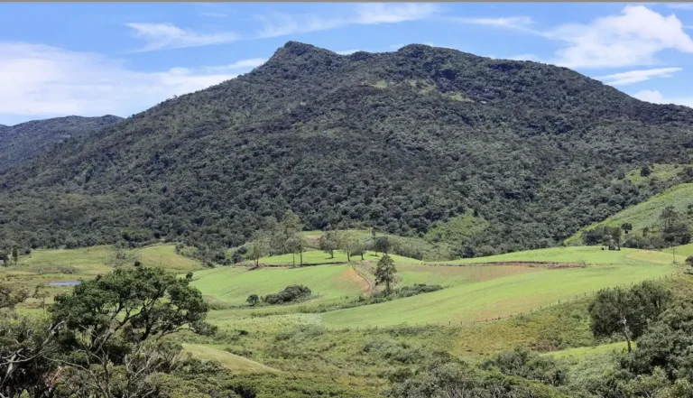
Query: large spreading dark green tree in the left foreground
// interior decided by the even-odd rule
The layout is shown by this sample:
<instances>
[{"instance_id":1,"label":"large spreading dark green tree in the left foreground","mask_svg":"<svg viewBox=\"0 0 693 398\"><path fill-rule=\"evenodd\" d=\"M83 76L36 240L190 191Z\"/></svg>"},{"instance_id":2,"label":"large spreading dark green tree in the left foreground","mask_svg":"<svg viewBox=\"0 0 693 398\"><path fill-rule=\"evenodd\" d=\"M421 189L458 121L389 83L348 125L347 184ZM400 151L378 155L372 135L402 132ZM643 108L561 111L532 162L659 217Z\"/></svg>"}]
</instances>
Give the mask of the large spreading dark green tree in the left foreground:
<instances>
[{"instance_id":1,"label":"large spreading dark green tree in the left foreground","mask_svg":"<svg viewBox=\"0 0 693 398\"><path fill-rule=\"evenodd\" d=\"M79 380L78 396L147 396L149 375L180 356L162 338L188 329L215 331L205 318L202 293L162 268L119 268L60 294L51 307L53 323L64 322L56 358Z\"/></svg>"}]
</instances>

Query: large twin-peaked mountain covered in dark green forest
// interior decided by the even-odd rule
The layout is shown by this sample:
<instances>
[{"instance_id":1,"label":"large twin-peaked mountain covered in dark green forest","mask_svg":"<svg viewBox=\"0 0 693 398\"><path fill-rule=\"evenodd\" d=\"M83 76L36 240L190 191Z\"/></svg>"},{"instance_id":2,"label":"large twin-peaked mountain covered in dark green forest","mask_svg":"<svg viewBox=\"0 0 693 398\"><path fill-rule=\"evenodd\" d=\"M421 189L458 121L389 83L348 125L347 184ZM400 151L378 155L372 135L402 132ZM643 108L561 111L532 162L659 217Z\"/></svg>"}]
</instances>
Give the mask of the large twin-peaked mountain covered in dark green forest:
<instances>
[{"instance_id":1,"label":"large twin-peaked mountain covered in dark green forest","mask_svg":"<svg viewBox=\"0 0 693 398\"><path fill-rule=\"evenodd\" d=\"M503 252L553 245L687 180L638 187L623 175L692 151L693 109L570 69L419 44L344 56L288 42L244 76L5 173L0 239L225 247L291 208L307 229L405 236L471 214L483 228L456 244Z\"/></svg>"}]
</instances>

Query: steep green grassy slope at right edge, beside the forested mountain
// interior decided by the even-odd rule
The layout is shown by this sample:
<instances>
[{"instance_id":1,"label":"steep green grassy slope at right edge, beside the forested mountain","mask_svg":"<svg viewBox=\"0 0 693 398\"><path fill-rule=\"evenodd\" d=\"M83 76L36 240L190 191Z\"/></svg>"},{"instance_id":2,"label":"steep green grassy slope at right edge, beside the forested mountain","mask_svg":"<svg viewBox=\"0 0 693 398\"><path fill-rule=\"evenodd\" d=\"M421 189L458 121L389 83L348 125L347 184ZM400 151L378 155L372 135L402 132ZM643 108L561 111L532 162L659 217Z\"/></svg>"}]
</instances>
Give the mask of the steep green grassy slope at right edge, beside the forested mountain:
<instances>
[{"instance_id":1,"label":"steep green grassy slope at right edge, beside the forested mountain","mask_svg":"<svg viewBox=\"0 0 693 398\"><path fill-rule=\"evenodd\" d=\"M676 185L651 199L631 208L626 208L602 222L581 228L575 235L568 237L565 242L567 245L580 245L582 243L580 236L583 231L597 226L620 227L624 223L633 225L631 234L642 235L642 228L649 227L651 230L656 230L657 226L661 225L661 210L667 206L673 206L679 213L687 215L688 206L693 206L693 183Z\"/></svg>"}]
</instances>

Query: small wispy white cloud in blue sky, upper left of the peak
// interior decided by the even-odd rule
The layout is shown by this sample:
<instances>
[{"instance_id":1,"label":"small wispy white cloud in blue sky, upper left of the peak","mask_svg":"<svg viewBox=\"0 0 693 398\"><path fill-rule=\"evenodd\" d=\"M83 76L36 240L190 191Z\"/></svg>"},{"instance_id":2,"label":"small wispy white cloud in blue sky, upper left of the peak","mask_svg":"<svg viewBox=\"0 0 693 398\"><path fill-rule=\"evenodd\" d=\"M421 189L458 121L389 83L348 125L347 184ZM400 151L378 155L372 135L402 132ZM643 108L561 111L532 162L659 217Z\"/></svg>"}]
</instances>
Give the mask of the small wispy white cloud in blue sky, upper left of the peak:
<instances>
[{"instance_id":1,"label":"small wispy white cloud in blue sky, upper left of the peak","mask_svg":"<svg viewBox=\"0 0 693 398\"><path fill-rule=\"evenodd\" d=\"M236 42L240 39L240 35L234 32L195 32L181 29L171 23L125 23L125 26L134 29L134 36L146 42L144 47L137 51L199 47Z\"/></svg>"}]
</instances>

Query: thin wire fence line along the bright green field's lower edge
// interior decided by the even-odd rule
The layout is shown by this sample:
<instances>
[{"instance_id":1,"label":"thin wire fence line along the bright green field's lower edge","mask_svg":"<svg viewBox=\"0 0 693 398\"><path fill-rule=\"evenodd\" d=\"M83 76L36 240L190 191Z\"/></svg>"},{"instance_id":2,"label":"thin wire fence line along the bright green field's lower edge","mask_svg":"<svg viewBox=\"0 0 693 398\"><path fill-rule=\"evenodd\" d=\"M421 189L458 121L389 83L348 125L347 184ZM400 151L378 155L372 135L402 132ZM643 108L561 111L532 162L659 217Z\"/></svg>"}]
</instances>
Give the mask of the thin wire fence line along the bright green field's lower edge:
<instances>
[{"instance_id":1,"label":"thin wire fence line along the bright green field's lower edge","mask_svg":"<svg viewBox=\"0 0 693 398\"><path fill-rule=\"evenodd\" d=\"M670 273L670 274L666 274L666 275L660 275L659 278L643 279L642 281L640 281L640 282L638 282L638 283L642 283L642 282L645 282L645 281L661 281L662 279L668 279L668 278L674 278L674 277L676 277L676 276L681 276L681 274L682 274L681 271L678 270L677 272L674 272L674 273ZM459 326L459 327L470 327L470 326L476 326L476 325L485 325L485 324L494 323L494 322L498 322L498 321L505 320L505 319L517 318L517 317L519 317L519 316L528 315L528 314L531 314L532 312L536 312L536 311L540 311L540 310L550 309L550 308L552 308L552 307L556 307L556 306L560 305L561 303L566 304L566 303L569 303L569 302L571 302L571 301L572 301L572 302L575 302L575 301L577 301L577 300L579 300L579 299L584 299L584 298L586 298L586 297L587 297L587 293L589 293L589 295L592 296L592 295L595 295L597 292L599 292L599 291L601 291L601 290L608 290L608 289L613 289L613 288L616 288L616 287L628 287L628 286L633 286L633 285L634 285L634 282L633 282L633 281L631 281L630 284L629 284L629 283L617 284L617 285L614 285L614 286L609 286L609 287L605 287L605 288L603 288L603 289L599 289L598 291L594 291L594 290L593 290L593 291L591 291L591 292L583 292L582 294L577 294L577 295L574 295L574 296L569 296L567 299L564 299L564 300L562 300L562 301L559 300L559 301L557 301L557 302L552 302L552 303L547 304L547 305L541 305L541 306L539 306L539 308L536 308L536 307L535 307L535 308L530 309L530 310L526 310L526 311L523 311L523 312L518 312L518 313L506 315L506 316L504 316L504 317L487 318L487 319L483 319L483 320L482 320L482 319L479 319L479 320L473 320L473 321L471 321L471 322L470 322L470 321L465 322L464 320L461 320L459 323L457 323L457 321L454 321L454 322L453 322L452 320L440 320L440 321L438 321L438 322L415 322L414 324L409 324L409 323L406 323L406 322L402 322L402 323L399 324L399 325L380 326L380 327L378 327L378 326L376 325L376 326L363 326L363 327L358 327L358 326L356 326L356 327L346 327L346 328L338 328L338 327L337 327L337 328L329 328L329 327L323 325L323 328L326 329L326 330L331 330L331 331L351 331L352 329L354 329L354 330L356 330L356 331L361 331L361 330L363 330L363 331L374 331L374 330L377 330L377 329L381 329L381 330L390 330L390 329L401 329L401 328L426 328L426 327L430 327L430 326L450 326L450 327L451 327L451 326ZM424 294L425 294L425 293L424 293Z\"/></svg>"}]
</instances>

